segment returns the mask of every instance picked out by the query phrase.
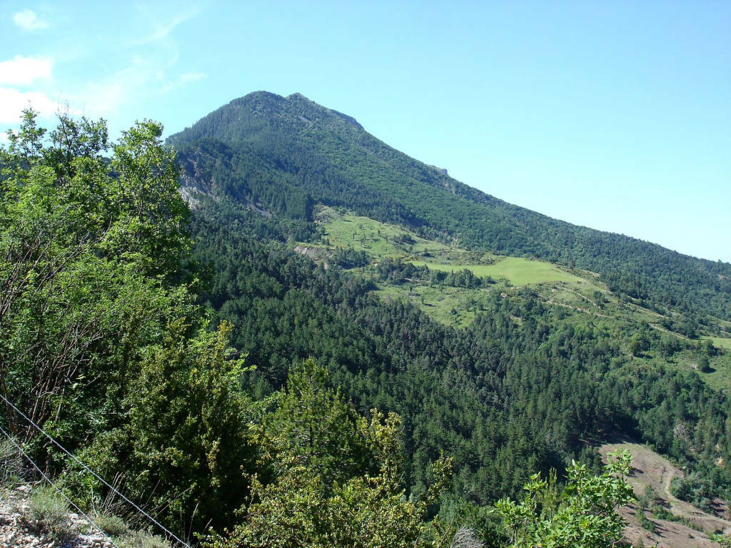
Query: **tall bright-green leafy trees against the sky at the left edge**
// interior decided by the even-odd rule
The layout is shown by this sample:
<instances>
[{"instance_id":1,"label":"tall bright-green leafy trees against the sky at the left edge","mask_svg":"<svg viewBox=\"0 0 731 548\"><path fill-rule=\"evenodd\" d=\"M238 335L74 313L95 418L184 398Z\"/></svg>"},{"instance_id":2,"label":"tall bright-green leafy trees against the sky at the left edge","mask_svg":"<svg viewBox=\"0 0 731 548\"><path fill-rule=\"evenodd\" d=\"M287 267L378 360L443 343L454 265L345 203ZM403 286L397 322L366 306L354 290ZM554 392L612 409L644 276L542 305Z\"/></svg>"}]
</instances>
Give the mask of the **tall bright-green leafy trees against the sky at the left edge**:
<instances>
[{"instance_id":1,"label":"tall bright-green leafy trees against the sky at the left edge","mask_svg":"<svg viewBox=\"0 0 731 548\"><path fill-rule=\"evenodd\" d=\"M126 132L111 171L103 122L61 116L47 135L29 110L0 151L0 389L36 422L57 398L98 403L98 379L154 341L164 301L191 310L171 288L189 240L161 132Z\"/></svg>"}]
</instances>

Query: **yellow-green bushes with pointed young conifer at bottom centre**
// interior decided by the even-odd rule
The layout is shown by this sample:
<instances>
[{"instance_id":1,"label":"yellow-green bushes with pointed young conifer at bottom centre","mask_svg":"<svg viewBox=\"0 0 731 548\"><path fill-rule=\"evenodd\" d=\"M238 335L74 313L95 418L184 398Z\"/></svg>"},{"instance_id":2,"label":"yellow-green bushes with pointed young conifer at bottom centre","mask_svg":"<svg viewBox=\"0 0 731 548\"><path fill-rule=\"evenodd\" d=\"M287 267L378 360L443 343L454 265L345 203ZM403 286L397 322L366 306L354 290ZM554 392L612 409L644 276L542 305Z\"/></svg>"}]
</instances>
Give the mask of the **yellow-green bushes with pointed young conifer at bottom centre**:
<instances>
[{"instance_id":1,"label":"yellow-green bushes with pointed young conifer at bottom centre","mask_svg":"<svg viewBox=\"0 0 731 548\"><path fill-rule=\"evenodd\" d=\"M434 463L435 482L422 500L407 500L401 419L375 410L370 421L357 418L326 381L326 371L310 360L292 371L263 431L274 480L254 477L244 521L230 536L209 537L208 546L375 548L424 541L426 512L444 490L450 461Z\"/></svg>"}]
</instances>

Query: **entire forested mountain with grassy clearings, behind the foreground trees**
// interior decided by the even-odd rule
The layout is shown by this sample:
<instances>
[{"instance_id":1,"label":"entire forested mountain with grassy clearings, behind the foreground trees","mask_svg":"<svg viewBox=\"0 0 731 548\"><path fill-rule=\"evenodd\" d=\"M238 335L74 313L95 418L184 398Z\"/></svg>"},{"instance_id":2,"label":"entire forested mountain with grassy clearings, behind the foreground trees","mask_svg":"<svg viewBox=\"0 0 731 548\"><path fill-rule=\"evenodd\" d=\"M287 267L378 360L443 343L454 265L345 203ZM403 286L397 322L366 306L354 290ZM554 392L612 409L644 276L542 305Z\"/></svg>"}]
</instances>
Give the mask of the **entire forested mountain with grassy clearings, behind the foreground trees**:
<instances>
[{"instance_id":1,"label":"entire forested mountain with grassy clearings, behind the foreground trees","mask_svg":"<svg viewBox=\"0 0 731 548\"><path fill-rule=\"evenodd\" d=\"M168 142L255 398L314 359L361 413L402 417L410 495L453 458L443 510L598 469L616 435L684 463L686 499L726 498L731 265L510 205L299 94Z\"/></svg>"}]
</instances>

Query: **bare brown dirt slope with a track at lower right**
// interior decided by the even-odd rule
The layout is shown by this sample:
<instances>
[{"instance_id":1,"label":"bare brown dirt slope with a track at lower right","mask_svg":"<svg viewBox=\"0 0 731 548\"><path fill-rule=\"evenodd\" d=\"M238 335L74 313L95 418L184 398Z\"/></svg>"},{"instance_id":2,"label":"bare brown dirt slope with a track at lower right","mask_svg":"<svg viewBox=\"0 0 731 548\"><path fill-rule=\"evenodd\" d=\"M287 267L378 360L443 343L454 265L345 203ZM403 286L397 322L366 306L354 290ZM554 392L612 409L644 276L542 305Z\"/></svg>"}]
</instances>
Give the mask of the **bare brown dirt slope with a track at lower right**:
<instances>
[{"instance_id":1,"label":"bare brown dirt slope with a track at lower right","mask_svg":"<svg viewBox=\"0 0 731 548\"><path fill-rule=\"evenodd\" d=\"M697 509L690 503L675 498L670 493L670 484L673 478L683 477L683 471L674 466L670 461L661 457L656 452L646 446L640 444L632 444L629 442L621 442L616 444L605 444L599 448L602 459L607 459L607 453L628 449L632 453L632 473L627 478L627 482L635 490L635 495L645 495L647 486L650 485L656 493L659 503L664 506L671 514L675 514L680 518L689 520L697 529L690 528L682 523L659 520L652 517L650 512L646 512L645 516L651 522L654 522L656 533L640 528L637 520L637 505L629 504L621 509L621 514L629 522L624 534L626 538L635 544L638 539L642 538L645 546L653 546L656 544L661 548L686 548L686 547L717 547L716 543L708 539L708 533L718 530L724 530L726 533L731 532L731 521L724 520Z\"/></svg>"}]
</instances>

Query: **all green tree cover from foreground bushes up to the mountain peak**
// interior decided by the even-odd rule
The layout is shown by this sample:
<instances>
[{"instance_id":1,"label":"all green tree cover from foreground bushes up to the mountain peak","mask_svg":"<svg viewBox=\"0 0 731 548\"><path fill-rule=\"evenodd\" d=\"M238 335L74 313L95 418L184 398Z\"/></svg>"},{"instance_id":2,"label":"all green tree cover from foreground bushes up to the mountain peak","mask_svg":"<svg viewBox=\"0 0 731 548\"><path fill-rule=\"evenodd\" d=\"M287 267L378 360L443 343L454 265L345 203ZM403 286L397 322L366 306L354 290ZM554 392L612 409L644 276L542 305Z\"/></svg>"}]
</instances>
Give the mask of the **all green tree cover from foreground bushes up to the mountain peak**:
<instances>
[{"instance_id":1,"label":"all green tree cover from foreground bushes up to the mountain peak","mask_svg":"<svg viewBox=\"0 0 731 548\"><path fill-rule=\"evenodd\" d=\"M10 133L0 395L167 527L216 548L605 546L630 497L626 455L596 451L616 435L685 466L683 498L729 498L730 402L702 371L726 354L671 329L723 330L729 265L507 205L302 96L237 99L171 138L178 158L161 135L32 112ZM606 286L587 314L333 248L322 206ZM417 286L479 295L473 321L379 293ZM668 327L605 313L640 305ZM9 406L0 424L87 509L110 494Z\"/></svg>"}]
</instances>

